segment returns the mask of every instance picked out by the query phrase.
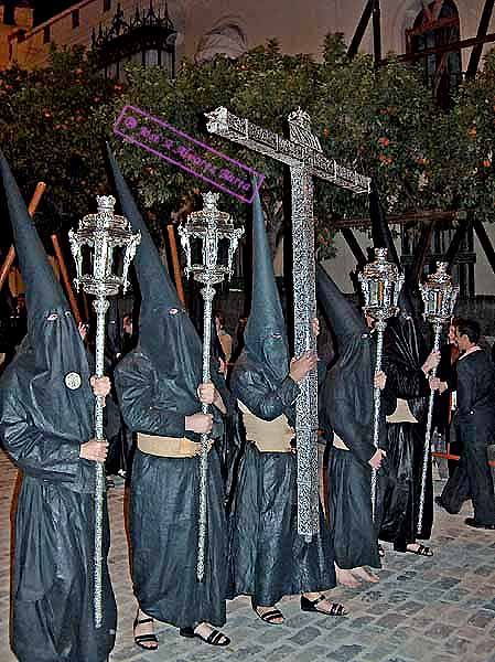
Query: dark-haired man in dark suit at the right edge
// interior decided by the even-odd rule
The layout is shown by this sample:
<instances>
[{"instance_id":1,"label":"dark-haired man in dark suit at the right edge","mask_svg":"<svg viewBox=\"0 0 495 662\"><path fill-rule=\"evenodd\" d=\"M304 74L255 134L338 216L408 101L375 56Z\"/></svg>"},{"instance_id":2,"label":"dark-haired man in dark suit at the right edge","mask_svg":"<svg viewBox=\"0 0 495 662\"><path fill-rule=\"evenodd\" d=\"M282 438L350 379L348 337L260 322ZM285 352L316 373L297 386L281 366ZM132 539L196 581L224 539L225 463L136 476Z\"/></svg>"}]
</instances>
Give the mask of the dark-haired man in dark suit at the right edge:
<instances>
[{"instance_id":1,"label":"dark-haired man in dark suit at the right edge","mask_svg":"<svg viewBox=\"0 0 495 662\"><path fill-rule=\"evenodd\" d=\"M495 530L495 499L487 447L495 435L495 366L478 343L480 324L460 320L456 327L458 387L454 424L462 446L461 459L437 500L450 513L459 513L463 501L472 499L474 516L465 523L476 528ZM440 392L449 383L430 382Z\"/></svg>"}]
</instances>

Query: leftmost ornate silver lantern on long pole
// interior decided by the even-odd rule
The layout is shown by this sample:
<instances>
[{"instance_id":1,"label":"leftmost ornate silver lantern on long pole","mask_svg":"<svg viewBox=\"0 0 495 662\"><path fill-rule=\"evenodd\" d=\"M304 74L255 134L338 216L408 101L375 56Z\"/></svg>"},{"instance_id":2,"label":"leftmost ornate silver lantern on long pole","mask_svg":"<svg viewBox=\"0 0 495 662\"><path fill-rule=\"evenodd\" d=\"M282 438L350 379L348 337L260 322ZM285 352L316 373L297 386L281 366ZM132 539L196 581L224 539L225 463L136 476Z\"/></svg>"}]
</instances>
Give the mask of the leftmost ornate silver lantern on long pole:
<instances>
[{"instance_id":1,"label":"leftmost ornate silver lantern on long pole","mask_svg":"<svg viewBox=\"0 0 495 662\"><path fill-rule=\"evenodd\" d=\"M105 355L105 316L109 308L108 297L123 292L129 287L128 271L141 241L141 234L132 234L128 221L114 214L115 197L97 196L98 211L88 214L79 222L76 232L71 231L68 238L76 263L77 277L75 288L83 288L94 295L93 307L96 311L96 369L97 377L104 376ZM122 253L121 271L117 273L117 250ZM87 269L87 271L85 270ZM115 269L115 270L114 270ZM104 401L95 398L95 439L104 438ZM94 619L95 627L101 627L101 562L103 562L103 506L105 493L105 472L100 462L96 463L95 488L95 552L94 552Z\"/></svg>"}]
</instances>

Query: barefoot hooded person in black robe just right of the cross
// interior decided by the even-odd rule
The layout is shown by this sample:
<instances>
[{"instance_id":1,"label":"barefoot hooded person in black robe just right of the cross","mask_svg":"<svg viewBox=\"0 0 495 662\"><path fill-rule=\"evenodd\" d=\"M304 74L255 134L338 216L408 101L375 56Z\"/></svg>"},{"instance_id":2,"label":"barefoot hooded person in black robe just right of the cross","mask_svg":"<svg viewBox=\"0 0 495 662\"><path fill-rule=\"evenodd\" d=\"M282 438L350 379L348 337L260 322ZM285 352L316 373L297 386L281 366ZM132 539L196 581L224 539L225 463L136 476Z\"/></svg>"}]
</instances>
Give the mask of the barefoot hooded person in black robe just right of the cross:
<instances>
[{"instance_id":1,"label":"barefoot hooded person in black robe just right of the cross","mask_svg":"<svg viewBox=\"0 0 495 662\"><path fill-rule=\"evenodd\" d=\"M369 463L377 453L373 444L375 344L363 314L321 266L316 269L316 293L337 345L337 360L326 373L320 397L320 426L332 444L327 469L329 521L335 562L343 570L377 568L380 567L376 524L380 519L380 485L374 523ZM384 401L381 410L390 406ZM380 429L381 448L383 433ZM384 469L378 476L383 472ZM377 580L367 573L355 574ZM355 585L355 577L346 577L342 583Z\"/></svg>"}]
</instances>

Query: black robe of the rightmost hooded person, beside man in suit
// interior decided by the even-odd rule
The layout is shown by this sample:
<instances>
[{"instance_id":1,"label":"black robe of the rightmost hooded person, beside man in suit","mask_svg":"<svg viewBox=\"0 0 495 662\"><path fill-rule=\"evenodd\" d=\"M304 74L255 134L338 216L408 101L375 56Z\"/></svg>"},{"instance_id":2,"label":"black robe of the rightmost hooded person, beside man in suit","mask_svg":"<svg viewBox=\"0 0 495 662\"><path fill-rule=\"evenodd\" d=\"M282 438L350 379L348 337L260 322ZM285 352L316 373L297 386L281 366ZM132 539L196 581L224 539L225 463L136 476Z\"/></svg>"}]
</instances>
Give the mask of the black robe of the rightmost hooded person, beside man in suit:
<instances>
[{"instance_id":1,"label":"black robe of the rightmost hooded person, beside man in suit","mask_svg":"<svg viewBox=\"0 0 495 662\"><path fill-rule=\"evenodd\" d=\"M431 455L428 461L421 531L417 532L421 478L424 457L428 380L421 370L412 370L385 353L387 387L397 398L407 401L418 423L387 423L387 465L389 482L384 495L380 538L394 543L398 552L417 538L427 540L433 523L433 480Z\"/></svg>"}]
</instances>

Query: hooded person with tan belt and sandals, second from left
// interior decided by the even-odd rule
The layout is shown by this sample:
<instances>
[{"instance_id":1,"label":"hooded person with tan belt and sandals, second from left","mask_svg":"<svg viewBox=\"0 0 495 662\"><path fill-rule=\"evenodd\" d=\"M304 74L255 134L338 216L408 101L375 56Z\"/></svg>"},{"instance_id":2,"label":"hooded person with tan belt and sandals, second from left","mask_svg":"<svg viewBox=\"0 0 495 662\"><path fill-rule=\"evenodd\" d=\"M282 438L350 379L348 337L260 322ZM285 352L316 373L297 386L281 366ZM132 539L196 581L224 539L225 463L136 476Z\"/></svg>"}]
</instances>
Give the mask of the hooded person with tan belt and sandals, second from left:
<instances>
[{"instance_id":1,"label":"hooded person with tan belt and sandals, second from left","mask_svg":"<svg viewBox=\"0 0 495 662\"><path fill-rule=\"evenodd\" d=\"M198 397L202 343L122 174L109 158L122 213L141 232L133 260L141 290L139 343L115 373L123 419L138 437L130 501L133 588L141 615L193 637L198 623L225 623L226 590L224 484L216 445L208 453L205 574L202 583L196 579L198 433L212 426L212 417L201 414ZM224 403L229 402L225 382L214 370L212 380L222 391L219 402L215 392L213 407L212 439L217 441L224 427L220 408L225 413ZM139 617L138 612L134 641L154 650L158 640L143 631L148 619ZM217 630L206 626L200 630L195 633L208 643L228 643Z\"/></svg>"}]
</instances>

